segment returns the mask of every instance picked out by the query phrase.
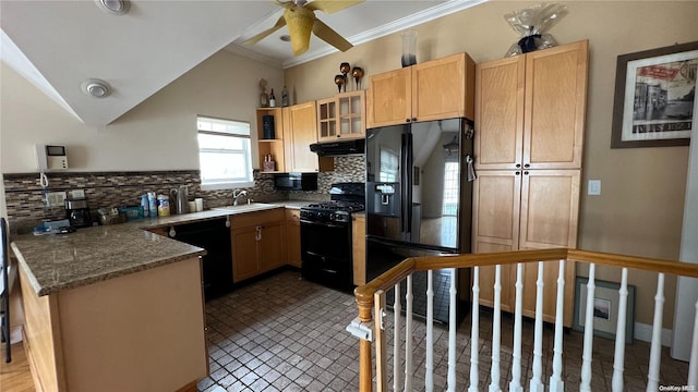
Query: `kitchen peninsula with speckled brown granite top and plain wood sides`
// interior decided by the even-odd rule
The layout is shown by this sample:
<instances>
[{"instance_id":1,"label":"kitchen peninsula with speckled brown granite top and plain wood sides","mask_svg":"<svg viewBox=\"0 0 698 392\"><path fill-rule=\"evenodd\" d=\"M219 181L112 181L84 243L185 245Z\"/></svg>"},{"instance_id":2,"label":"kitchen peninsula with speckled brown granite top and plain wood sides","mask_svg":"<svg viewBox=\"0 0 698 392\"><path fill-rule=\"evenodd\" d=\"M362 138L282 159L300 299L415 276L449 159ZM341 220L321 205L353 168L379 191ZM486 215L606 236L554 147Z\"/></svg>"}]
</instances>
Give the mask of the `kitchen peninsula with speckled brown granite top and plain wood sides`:
<instances>
[{"instance_id":1,"label":"kitchen peninsula with speckled brown granite top and plain wood sides","mask_svg":"<svg viewBox=\"0 0 698 392\"><path fill-rule=\"evenodd\" d=\"M14 238L37 390L195 391L206 377L205 250L142 230L157 224Z\"/></svg>"}]
</instances>

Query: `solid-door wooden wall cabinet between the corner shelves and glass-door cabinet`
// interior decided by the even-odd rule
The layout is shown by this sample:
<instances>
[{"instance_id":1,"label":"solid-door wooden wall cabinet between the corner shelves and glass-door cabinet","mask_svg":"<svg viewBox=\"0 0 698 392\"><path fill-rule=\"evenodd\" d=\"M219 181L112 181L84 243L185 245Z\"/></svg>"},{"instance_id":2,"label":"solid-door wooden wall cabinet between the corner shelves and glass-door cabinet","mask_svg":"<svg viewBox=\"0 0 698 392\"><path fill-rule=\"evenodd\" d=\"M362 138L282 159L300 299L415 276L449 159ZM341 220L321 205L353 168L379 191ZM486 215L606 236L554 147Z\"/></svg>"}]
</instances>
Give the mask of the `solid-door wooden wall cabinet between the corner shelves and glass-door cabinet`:
<instances>
[{"instance_id":1,"label":"solid-door wooden wall cabinet between the corner shelves and glass-door cabinet","mask_svg":"<svg viewBox=\"0 0 698 392\"><path fill-rule=\"evenodd\" d=\"M334 170L329 157L318 157L310 150L317 143L317 109L315 101L282 108L285 171L317 172Z\"/></svg>"}]
</instances>

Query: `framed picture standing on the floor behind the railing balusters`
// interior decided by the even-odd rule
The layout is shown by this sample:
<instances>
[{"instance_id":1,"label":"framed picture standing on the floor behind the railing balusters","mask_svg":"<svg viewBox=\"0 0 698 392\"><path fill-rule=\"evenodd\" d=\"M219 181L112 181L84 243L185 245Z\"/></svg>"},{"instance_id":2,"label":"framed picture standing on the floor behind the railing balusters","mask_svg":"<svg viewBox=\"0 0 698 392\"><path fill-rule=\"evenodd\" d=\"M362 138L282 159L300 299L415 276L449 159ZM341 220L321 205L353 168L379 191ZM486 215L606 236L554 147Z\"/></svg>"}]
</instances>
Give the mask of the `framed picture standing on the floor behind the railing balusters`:
<instances>
[{"instance_id":1,"label":"framed picture standing on the floor behind the railing balusters","mask_svg":"<svg viewBox=\"0 0 698 392\"><path fill-rule=\"evenodd\" d=\"M575 311L571 329L583 331L587 314L587 283L588 278L577 278L575 281ZM618 290L621 285L614 282L594 280L593 291L593 334L597 336L615 339L618 322ZM635 286L628 284L628 299L625 314L625 342L630 344L635 339Z\"/></svg>"}]
</instances>

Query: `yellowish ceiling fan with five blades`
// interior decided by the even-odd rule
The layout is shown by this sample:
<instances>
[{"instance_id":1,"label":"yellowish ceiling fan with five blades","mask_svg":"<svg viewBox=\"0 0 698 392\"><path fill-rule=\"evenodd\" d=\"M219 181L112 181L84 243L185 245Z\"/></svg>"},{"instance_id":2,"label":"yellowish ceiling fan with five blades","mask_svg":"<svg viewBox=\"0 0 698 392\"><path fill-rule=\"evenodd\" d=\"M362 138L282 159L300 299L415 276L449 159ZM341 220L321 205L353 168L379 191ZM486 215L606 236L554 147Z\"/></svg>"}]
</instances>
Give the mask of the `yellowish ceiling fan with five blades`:
<instances>
[{"instance_id":1,"label":"yellowish ceiling fan with five blades","mask_svg":"<svg viewBox=\"0 0 698 392\"><path fill-rule=\"evenodd\" d=\"M323 11L324 13L334 13L341 11L346 8L357 5L365 0L315 0L306 2L305 0L291 0L281 2L276 0L279 7L286 9L284 14L276 24L254 37L248 39L245 44L253 45L264 39L269 34L277 29L288 25L289 35L291 36L291 48L293 49L293 56L303 54L308 51L310 46L310 33L313 32L315 36L324 40L325 42L334 46L340 51L347 51L353 45L342 38L337 32L329 28L321 20L315 16L315 11Z\"/></svg>"}]
</instances>

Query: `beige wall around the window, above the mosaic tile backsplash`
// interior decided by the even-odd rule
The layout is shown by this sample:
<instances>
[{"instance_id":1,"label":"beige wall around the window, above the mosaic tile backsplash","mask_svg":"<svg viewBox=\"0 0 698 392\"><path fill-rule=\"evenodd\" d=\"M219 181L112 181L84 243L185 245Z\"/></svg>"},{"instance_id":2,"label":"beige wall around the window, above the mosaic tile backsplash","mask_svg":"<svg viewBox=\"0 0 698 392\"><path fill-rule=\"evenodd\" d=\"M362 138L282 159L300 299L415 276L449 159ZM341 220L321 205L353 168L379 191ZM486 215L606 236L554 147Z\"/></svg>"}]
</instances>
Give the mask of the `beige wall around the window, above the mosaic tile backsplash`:
<instances>
[{"instance_id":1,"label":"beige wall around the window, above the mosaic tile backsplash","mask_svg":"<svg viewBox=\"0 0 698 392\"><path fill-rule=\"evenodd\" d=\"M256 130L260 78L277 89L284 83L280 69L220 51L113 123L91 127L1 66L2 173L36 171L35 144L65 145L71 171L198 169L196 115L249 121Z\"/></svg>"}]
</instances>

